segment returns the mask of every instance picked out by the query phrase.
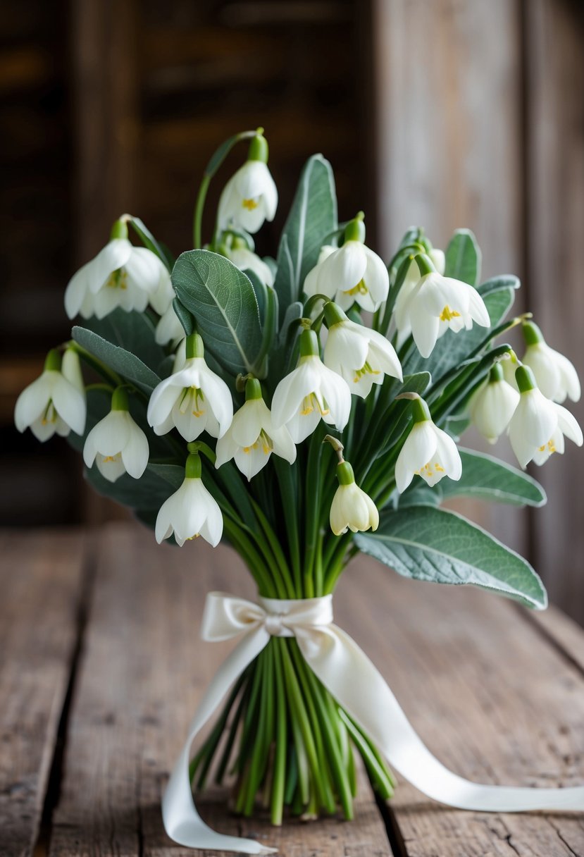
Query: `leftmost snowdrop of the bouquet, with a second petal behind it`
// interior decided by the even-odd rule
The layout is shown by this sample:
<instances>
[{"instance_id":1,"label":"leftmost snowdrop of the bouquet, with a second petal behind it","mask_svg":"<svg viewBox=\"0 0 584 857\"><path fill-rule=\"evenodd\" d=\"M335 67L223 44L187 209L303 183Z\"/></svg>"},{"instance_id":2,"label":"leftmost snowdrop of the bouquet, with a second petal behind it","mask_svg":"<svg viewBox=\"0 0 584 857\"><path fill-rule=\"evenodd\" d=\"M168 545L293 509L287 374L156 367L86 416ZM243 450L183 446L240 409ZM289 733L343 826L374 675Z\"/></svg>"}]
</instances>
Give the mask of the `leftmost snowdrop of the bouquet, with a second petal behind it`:
<instances>
[{"instance_id":1,"label":"leftmost snowdrop of the bouquet, with a second petal behind it","mask_svg":"<svg viewBox=\"0 0 584 857\"><path fill-rule=\"evenodd\" d=\"M16 399L15 426L20 432L30 428L43 442L55 433L67 437L71 429L83 434L85 421L86 396L79 357L68 348L62 361L57 349L52 349L42 375Z\"/></svg>"}]
</instances>

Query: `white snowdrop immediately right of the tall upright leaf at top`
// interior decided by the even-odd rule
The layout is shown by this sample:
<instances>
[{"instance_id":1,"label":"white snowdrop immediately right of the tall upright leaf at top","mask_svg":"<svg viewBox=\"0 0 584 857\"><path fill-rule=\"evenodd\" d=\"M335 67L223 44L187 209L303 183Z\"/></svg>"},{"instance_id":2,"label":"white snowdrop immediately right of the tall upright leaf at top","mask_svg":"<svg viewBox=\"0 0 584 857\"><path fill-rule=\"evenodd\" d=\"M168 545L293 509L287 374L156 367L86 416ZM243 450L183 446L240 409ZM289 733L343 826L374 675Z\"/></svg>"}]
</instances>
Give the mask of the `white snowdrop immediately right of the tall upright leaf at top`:
<instances>
[{"instance_id":1,"label":"white snowdrop immediately right of the tall upright leaf at top","mask_svg":"<svg viewBox=\"0 0 584 857\"><path fill-rule=\"evenodd\" d=\"M308 297L330 297L342 309L355 301L361 309L373 312L390 291L390 275L384 261L363 243L365 226L360 213L349 221L342 247L333 249L307 274L304 291Z\"/></svg>"}]
</instances>

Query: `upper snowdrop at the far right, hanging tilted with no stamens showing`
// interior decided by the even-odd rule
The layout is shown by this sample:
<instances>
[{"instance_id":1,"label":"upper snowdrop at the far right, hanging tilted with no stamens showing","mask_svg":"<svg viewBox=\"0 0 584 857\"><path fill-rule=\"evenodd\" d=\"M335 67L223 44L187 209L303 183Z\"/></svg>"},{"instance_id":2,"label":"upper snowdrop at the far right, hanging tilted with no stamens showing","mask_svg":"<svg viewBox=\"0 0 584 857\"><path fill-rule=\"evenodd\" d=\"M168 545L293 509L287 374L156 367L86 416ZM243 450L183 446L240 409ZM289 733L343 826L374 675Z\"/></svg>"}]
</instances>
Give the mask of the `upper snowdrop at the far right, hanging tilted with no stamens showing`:
<instances>
[{"instance_id":1,"label":"upper snowdrop at the far right, hanging tilted with no stamens showing","mask_svg":"<svg viewBox=\"0 0 584 857\"><path fill-rule=\"evenodd\" d=\"M573 363L546 344L533 321L524 321L522 330L527 345L522 362L532 370L545 398L562 403L569 396L573 402L579 401L580 381Z\"/></svg>"}]
</instances>

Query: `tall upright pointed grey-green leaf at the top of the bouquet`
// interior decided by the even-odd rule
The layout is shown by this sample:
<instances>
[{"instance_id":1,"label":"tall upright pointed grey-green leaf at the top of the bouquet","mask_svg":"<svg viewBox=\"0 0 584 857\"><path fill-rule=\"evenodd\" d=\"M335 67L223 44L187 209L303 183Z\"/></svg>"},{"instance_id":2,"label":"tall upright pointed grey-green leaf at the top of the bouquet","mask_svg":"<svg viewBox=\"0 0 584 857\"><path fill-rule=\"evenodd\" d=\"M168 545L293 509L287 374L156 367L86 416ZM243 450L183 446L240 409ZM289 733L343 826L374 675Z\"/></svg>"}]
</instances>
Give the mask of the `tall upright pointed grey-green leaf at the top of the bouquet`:
<instances>
[{"instance_id":1,"label":"tall upright pointed grey-green leaf at the top of the bouquet","mask_svg":"<svg viewBox=\"0 0 584 857\"><path fill-rule=\"evenodd\" d=\"M302 170L298 189L277 251L274 288L280 319L302 294L307 273L319 261L325 238L337 229L335 177L322 155L313 155Z\"/></svg>"}]
</instances>

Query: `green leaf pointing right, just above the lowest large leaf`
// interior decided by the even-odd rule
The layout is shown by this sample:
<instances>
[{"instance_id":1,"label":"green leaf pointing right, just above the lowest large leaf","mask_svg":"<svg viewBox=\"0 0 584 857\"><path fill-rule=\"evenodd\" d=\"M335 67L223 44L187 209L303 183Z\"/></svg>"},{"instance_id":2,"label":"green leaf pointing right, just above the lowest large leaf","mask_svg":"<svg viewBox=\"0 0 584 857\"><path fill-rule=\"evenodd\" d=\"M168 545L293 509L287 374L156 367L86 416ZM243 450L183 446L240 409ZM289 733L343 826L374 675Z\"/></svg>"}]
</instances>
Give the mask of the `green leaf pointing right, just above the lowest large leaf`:
<instances>
[{"instance_id":1,"label":"green leaf pointing right, just above the lowest large leaf","mask_svg":"<svg viewBox=\"0 0 584 857\"><path fill-rule=\"evenodd\" d=\"M459 452L462 476L458 482L442 480L444 498L476 497L510 506L537 507L545 504L545 491L532 476L485 452L472 449L460 449Z\"/></svg>"}]
</instances>

